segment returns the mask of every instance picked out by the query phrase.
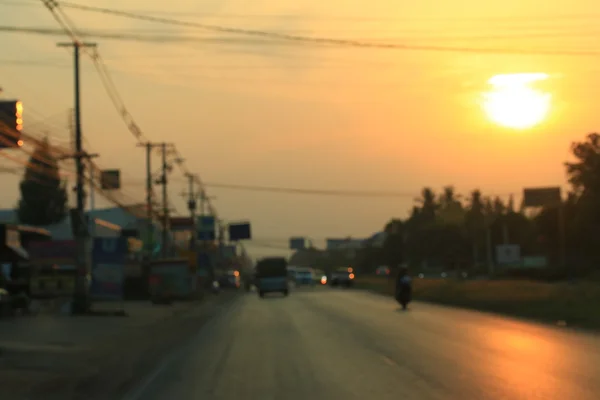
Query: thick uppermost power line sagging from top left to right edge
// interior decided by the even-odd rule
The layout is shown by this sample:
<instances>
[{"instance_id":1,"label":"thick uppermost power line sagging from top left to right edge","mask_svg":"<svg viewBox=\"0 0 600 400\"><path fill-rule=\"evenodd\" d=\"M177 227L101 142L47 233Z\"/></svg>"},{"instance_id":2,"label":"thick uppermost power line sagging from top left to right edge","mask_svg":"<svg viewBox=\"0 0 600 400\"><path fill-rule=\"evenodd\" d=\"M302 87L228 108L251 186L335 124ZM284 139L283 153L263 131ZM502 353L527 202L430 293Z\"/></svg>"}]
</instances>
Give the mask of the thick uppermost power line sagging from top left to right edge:
<instances>
[{"instance_id":1,"label":"thick uppermost power line sagging from top left to right edge","mask_svg":"<svg viewBox=\"0 0 600 400\"><path fill-rule=\"evenodd\" d=\"M490 47L468 47L468 46L437 46L437 45L408 45L397 43L377 43L352 39L335 39L330 37L310 37L303 35L294 35L288 33L269 32L254 29L243 29L227 27L222 25L211 25L199 22L182 21L173 18L154 17L150 15L138 14L130 11L117 10L104 7L87 6L83 4L60 2L60 5L66 8L78 9L101 14L115 15L124 18L135 19L139 21L155 22L160 24L182 26L188 28L198 28L213 32L229 33L244 36L261 37L267 39L276 39L282 41L293 41L299 43L312 43L319 45L333 45L343 47L359 47L371 49L388 50L412 50L412 51L436 51L436 52L460 52L460 53L489 53L489 54L514 54L514 55L561 55L561 56L598 56L597 51L568 51L568 50L542 50L542 49L510 49L510 48L490 48Z\"/></svg>"}]
</instances>

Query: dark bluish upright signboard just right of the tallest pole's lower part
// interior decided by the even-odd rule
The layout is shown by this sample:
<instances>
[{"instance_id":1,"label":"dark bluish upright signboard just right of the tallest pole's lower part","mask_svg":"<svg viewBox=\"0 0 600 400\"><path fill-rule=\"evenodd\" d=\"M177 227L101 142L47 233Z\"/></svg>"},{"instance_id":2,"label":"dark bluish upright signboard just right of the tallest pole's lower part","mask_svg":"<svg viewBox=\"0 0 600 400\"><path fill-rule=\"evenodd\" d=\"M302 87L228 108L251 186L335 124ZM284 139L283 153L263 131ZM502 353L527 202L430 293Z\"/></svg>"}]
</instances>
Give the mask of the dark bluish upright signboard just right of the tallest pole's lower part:
<instances>
[{"instance_id":1,"label":"dark bluish upright signboard just right of the tallest pole's lower part","mask_svg":"<svg viewBox=\"0 0 600 400\"><path fill-rule=\"evenodd\" d=\"M92 282L90 293L96 299L122 300L127 238L96 238L92 252Z\"/></svg>"}]
</instances>

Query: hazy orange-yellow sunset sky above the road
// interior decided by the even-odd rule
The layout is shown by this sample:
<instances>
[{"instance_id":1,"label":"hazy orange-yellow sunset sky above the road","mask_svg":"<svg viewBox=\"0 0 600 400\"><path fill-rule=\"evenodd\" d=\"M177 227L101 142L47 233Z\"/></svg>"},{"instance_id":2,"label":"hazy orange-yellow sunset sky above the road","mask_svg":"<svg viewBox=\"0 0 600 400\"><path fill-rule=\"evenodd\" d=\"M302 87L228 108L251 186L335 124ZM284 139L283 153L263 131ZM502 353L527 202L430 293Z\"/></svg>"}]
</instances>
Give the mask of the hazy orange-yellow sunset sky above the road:
<instances>
[{"instance_id":1,"label":"hazy orange-yellow sunset sky above the road","mask_svg":"<svg viewBox=\"0 0 600 400\"><path fill-rule=\"evenodd\" d=\"M402 193L327 197L208 187L222 218L251 221L251 251L259 253L280 252L290 236L316 243L369 236L391 217L406 216L424 186L454 185L465 195L479 188L507 199L524 187L565 185L570 144L599 123L600 56L567 54L600 53L593 0L76 2L240 29L437 48L276 41L64 9L80 32L100 36L87 40L97 42L145 136L174 143L205 182ZM59 28L38 0L0 0L0 26ZM0 87L5 98L23 101L26 130L67 145L72 56L56 46L65 40L0 30ZM463 50L442 51L448 47ZM532 54L540 51L555 54ZM101 167L121 169L123 191L142 201L144 151L85 57L81 71L86 149L101 155ZM552 96L551 110L534 128L503 128L482 112L487 81L514 73L548 75L541 85ZM3 153L1 165L16 165ZM159 166L158 155L152 161ZM2 179L0 207L12 207L20 177ZM185 189L173 173L169 196L182 214Z\"/></svg>"}]
</instances>

